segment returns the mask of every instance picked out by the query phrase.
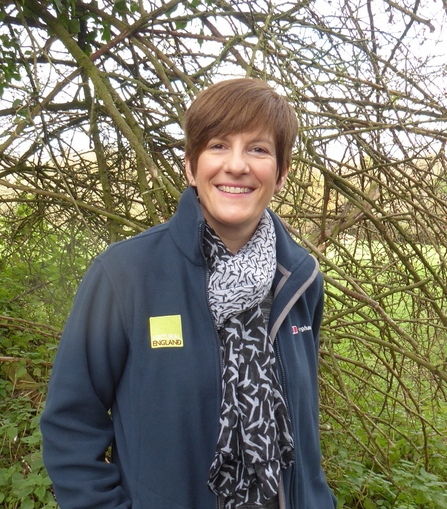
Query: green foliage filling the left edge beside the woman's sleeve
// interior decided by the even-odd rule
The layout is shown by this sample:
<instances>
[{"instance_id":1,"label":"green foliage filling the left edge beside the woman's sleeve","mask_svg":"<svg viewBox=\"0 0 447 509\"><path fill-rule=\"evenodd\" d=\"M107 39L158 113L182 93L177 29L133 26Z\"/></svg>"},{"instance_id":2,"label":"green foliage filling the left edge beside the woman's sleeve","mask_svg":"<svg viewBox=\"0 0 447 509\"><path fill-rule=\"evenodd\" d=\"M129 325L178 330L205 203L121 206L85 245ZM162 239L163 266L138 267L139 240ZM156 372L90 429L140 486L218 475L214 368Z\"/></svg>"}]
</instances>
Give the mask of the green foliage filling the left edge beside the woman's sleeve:
<instances>
[{"instance_id":1,"label":"green foliage filling the left edge beside the woman's sleeve","mask_svg":"<svg viewBox=\"0 0 447 509\"><path fill-rule=\"evenodd\" d=\"M37 221L26 204L4 214L0 233L0 505L49 509L56 502L39 415L60 328L96 244L73 225Z\"/></svg>"}]
</instances>

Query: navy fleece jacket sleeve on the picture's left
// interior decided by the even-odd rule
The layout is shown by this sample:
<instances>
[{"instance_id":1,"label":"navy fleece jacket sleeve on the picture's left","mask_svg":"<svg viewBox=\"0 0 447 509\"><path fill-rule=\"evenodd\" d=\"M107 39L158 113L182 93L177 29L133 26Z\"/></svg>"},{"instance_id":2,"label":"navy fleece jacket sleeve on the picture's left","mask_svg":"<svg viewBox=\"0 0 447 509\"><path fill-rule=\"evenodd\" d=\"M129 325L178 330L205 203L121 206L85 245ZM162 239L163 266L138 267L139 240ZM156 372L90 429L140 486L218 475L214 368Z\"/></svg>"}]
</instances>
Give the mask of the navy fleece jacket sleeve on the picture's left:
<instances>
[{"instance_id":1,"label":"navy fleece jacket sleeve on the picture's left","mask_svg":"<svg viewBox=\"0 0 447 509\"><path fill-rule=\"evenodd\" d=\"M122 309L95 261L66 323L41 418L43 458L61 509L127 509L116 465L105 461L109 410L127 356Z\"/></svg>"}]
</instances>

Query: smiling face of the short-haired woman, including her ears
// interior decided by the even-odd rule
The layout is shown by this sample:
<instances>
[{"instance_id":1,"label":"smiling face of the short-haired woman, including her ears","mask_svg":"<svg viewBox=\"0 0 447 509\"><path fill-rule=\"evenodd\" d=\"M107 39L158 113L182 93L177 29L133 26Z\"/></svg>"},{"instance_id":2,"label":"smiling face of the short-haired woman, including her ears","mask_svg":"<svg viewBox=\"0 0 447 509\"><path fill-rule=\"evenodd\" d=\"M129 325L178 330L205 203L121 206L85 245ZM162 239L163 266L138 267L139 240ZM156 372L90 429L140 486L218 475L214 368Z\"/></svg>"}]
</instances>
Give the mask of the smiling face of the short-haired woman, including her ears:
<instances>
[{"instance_id":1,"label":"smiling face of the short-haired woman, including her ears","mask_svg":"<svg viewBox=\"0 0 447 509\"><path fill-rule=\"evenodd\" d=\"M186 174L197 188L205 219L235 253L253 235L277 182L273 136L243 132L209 140L193 176L188 158Z\"/></svg>"}]
</instances>

